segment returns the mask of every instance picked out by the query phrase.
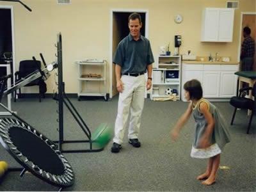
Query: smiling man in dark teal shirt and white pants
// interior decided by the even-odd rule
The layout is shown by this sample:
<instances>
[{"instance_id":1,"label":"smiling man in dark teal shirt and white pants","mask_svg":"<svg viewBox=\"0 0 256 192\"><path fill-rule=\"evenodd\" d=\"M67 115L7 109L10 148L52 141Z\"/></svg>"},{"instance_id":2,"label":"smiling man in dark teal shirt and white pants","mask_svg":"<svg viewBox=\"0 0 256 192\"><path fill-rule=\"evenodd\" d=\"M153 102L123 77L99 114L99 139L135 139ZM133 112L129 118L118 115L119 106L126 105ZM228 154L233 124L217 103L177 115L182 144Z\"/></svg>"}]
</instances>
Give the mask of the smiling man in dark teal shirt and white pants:
<instances>
[{"instance_id":1,"label":"smiling man in dark teal shirt and white pants","mask_svg":"<svg viewBox=\"0 0 256 192\"><path fill-rule=\"evenodd\" d=\"M130 33L118 44L113 59L116 88L119 92L115 137L111 148L113 153L118 153L122 148L124 131L128 123L129 143L133 147L140 147L138 135L144 106L145 85L149 90L152 83L154 57L149 40L140 34L142 26L140 14L129 15L128 26ZM148 72L147 84L145 72Z\"/></svg>"}]
</instances>

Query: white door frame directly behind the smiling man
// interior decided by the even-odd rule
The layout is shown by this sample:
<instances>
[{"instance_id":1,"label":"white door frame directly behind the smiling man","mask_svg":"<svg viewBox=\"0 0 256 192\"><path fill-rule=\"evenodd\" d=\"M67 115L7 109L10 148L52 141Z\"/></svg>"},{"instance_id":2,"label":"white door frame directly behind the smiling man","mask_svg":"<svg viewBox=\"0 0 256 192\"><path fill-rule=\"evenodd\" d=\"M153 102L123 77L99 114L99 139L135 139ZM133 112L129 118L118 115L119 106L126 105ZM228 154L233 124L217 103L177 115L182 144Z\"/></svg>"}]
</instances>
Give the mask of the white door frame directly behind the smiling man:
<instances>
[{"instance_id":1,"label":"white door frame directly behind the smiling man","mask_svg":"<svg viewBox=\"0 0 256 192\"><path fill-rule=\"evenodd\" d=\"M109 98L113 97L112 92L112 81L113 81L113 74L112 74L112 65L113 65L113 14L115 12L139 12L139 13L145 13L145 37L148 38L148 10L139 10L139 9L111 9L110 10L110 27L109 27Z\"/></svg>"}]
</instances>

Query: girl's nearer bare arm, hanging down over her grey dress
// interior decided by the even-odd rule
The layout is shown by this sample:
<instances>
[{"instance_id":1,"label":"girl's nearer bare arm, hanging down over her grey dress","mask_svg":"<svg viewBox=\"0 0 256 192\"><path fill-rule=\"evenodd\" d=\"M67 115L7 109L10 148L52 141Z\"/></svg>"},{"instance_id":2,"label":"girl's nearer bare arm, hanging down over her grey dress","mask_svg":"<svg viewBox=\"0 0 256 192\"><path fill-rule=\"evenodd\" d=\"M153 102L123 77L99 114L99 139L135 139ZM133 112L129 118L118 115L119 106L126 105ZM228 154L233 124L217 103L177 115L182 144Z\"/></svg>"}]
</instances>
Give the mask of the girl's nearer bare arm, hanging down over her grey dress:
<instances>
[{"instance_id":1,"label":"girl's nearer bare arm, hanging down over her grey dress","mask_svg":"<svg viewBox=\"0 0 256 192\"><path fill-rule=\"evenodd\" d=\"M205 120L207 122L207 127L200 141L200 148L206 148L211 145L209 141L211 141L211 136L214 129L214 118L210 113L209 106L206 102L200 103L199 110L200 110L200 113L204 115Z\"/></svg>"}]
</instances>

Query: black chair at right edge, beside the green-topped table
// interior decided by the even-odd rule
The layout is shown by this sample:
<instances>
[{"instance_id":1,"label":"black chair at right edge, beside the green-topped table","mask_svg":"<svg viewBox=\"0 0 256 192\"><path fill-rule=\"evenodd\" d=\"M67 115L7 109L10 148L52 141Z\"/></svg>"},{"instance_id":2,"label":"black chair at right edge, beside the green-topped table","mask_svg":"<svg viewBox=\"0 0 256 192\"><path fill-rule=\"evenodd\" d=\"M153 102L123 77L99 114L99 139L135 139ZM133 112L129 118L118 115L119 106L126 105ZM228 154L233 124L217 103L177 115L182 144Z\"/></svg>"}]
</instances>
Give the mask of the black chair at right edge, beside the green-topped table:
<instances>
[{"instance_id":1,"label":"black chair at right edge, beside the green-topped table","mask_svg":"<svg viewBox=\"0 0 256 192\"><path fill-rule=\"evenodd\" d=\"M252 90L252 95L254 97L254 100L244 97L246 95L246 93L249 92L249 90ZM247 132L246 132L247 134L249 134L249 130L250 130L251 123L252 123L252 118L253 118L253 115L255 114L255 111L256 111L256 83L253 85L253 87L249 86L249 87L241 88L239 90L239 96L238 97L232 97L230 99L230 104L235 107L235 111L234 111L234 114L232 116L232 120L231 120L230 125L232 125L233 122L234 122L234 118L235 118L235 115L236 115L237 108L252 110L252 114L250 116L250 121L249 121Z\"/></svg>"}]
</instances>

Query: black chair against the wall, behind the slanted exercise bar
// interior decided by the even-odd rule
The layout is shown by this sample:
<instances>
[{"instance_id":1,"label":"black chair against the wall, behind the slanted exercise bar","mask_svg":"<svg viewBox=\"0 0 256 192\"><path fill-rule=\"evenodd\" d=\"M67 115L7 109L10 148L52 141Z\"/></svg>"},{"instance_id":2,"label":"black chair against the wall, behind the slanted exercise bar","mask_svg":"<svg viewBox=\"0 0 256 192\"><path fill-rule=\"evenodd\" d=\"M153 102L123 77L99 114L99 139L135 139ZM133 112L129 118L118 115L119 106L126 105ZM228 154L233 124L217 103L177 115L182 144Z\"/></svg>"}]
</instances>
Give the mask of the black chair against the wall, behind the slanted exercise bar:
<instances>
[{"instance_id":1,"label":"black chair against the wall, behind the slanted exercise bar","mask_svg":"<svg viewBox=\"0 0 256 192\"><path fill-rule=\"evenodd\" d=\"M36 70L41 69L41 62L37 60L24 60L20 61L19 71L15 72L15 82L22 81L29 74L35 72ZM35 79L31 83L26 84L25 86L39 86L39 102L41 102L41 98L45 97L44 93L47 91L46 84L42 77ZM17 92L14 92L14 102L16 102ZM18 98L22 97L21 90L19 89Z\"/></svg>"}]
</instances>

